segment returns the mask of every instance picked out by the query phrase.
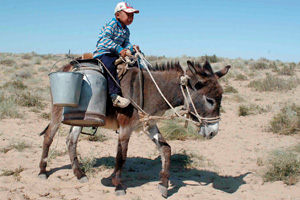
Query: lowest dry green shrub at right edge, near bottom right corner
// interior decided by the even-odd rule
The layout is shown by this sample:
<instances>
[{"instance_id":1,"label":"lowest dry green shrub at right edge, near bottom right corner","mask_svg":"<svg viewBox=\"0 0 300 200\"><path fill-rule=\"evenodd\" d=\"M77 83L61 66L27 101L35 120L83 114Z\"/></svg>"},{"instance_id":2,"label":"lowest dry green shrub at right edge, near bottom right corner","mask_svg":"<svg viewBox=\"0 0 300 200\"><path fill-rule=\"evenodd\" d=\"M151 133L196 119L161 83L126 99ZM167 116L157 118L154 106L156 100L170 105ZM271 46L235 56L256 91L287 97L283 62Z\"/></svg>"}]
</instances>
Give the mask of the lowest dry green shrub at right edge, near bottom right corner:
<instances>
[{"instance_id":1,"label":"lowest dry green shrub at right edge, near bottom right corner","mask_svg":"<svg viewBox=\"0 0 300 200\"><path fill-rule=\"evenodd\" d=\"M268 162L269 167L263 175L264 181L283 181L287 185L297 183L300 161L296 154L287 151L274 151Z\"/></svg>"}]
</instances>

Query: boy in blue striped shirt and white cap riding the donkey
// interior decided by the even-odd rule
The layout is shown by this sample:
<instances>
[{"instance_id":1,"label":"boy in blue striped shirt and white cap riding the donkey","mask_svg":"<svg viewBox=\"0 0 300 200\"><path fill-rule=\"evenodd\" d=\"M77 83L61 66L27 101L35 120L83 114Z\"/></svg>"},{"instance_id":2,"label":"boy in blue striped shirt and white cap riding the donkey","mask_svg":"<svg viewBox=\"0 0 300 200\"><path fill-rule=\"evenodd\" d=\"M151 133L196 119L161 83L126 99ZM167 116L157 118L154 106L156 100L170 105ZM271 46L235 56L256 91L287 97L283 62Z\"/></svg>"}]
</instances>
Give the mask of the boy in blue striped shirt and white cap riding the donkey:
<instances>
[{"instance_id":1,"label":"boy in blue striped shirt and white cap riding the donkey","mask_svg":"<svg viewBox=\"0 0 300 200\"><path fill-rule=\"evenodd\" d=\"M93 53L93 57L100 59L113 76L113 78L107 76L108 92L113 106L120 108L127 107L130 100L121 96L121 88L118 86L120 80L114 63L120 56L125 58L128 54L139 51L139 46L130 44L130 32L127 28L133 22L134 13L139 13L139 10L134 9L126 2L118 3L115 8L115 18L101 29L96 50Z\"/></svg>"}]
</instances>

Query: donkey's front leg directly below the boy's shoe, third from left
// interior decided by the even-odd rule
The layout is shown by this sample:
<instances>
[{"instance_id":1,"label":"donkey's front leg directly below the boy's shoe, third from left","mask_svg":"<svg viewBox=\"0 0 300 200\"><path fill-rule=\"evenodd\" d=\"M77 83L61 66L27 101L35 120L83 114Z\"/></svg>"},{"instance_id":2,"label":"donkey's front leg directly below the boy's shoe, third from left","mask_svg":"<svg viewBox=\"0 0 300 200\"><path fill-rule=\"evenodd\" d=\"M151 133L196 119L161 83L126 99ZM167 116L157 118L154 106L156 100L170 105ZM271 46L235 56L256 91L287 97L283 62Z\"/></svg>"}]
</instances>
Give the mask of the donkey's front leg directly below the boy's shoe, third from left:
<instances>
[{"instance_id":1,"label":"donkey's front leg directly below the boy's shoe, third from left","mask_svg":"<svg viewBox=\"0 0 300 200\"><path fill-rule=\"evenodd\" d=\"M116 157L116 165L115 170L112 173L112 183L116 186L116 195L125 195L125 188L122 185L122 168L127 158L127 150L129 138L131 136L132 131L128 128L120 127L120 133L118 137L118 149L117 149L117 157Z\"/></svg>"}]
</instances>

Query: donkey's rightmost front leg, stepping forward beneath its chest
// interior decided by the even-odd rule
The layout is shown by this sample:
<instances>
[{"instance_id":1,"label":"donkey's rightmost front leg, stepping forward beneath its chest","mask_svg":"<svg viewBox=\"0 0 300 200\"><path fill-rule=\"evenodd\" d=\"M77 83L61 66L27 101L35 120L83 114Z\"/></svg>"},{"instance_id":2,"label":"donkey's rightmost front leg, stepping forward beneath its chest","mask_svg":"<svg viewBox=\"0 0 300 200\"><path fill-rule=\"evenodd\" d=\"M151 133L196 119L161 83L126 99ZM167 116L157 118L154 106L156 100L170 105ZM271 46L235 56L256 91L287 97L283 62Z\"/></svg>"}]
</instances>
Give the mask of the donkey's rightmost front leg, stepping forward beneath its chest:
<instances>
[{"instance_id":1,"label":"donkey's rightmost front leg, stepping forward beneath its chest","mask_svg":"<svg viewBox=\"0 0 300 200\"><path fill-rule=\"evenodd\" d=\"M160 172L161 183L158 185L163 197L168 196L168 186L170 177L171 147L166 142L156 125L148 129L149 137L157 145L161 153L162 170Z\"/></svg>"}]
</instances>

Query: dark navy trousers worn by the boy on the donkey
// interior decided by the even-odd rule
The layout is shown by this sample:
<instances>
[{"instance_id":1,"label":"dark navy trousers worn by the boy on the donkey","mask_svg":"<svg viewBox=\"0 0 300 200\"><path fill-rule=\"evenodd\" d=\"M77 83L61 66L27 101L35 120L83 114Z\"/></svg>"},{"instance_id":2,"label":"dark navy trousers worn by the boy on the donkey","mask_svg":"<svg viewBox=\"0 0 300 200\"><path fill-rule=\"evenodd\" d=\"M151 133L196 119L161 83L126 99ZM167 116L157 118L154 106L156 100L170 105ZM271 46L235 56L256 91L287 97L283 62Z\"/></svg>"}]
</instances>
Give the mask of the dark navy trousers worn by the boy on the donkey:
<instances>
[{"instance_id":1,"label":"dark navy trousers worn by the boy on the donkey","mask_svg":"<svg viewBox=\"0 0 300 200\"><path fill-rule=\"evenodd\" d=\"M103 64L108 69L108 71L110 72L110 74L114 77L114 79L120 85L120 80L119 80L118 74L117 74L117 68L114 65L114 62L119 58L119 56L117 54L110 53L110 54L101 55L101 56L99 56L97 58L99 58L103 62ZM108 85L107 89L108 89L109 95L112 95L112 94L119 94L119 95L121 95L121 88L119 88L119 86L112 79L112 77L109 75L108 72L107 72L106 76L107 76L106 78L107 78L107 85Z\"/></svg>"}]
</instances>

